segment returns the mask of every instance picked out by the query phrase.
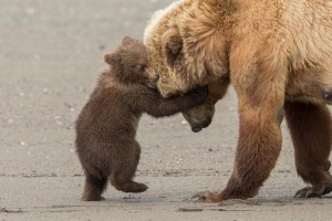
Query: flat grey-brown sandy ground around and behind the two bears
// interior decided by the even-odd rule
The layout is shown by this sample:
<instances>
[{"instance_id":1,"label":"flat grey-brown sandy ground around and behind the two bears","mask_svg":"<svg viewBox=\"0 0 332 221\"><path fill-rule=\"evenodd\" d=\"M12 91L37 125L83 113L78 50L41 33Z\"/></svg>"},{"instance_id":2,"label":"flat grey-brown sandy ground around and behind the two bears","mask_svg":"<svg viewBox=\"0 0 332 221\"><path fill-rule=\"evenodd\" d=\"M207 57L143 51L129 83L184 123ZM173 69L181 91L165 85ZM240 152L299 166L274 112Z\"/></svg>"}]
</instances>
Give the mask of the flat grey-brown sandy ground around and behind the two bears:
<instances>
[{"instance_id":1,"label":"flat grey-brown sandy ground around and behind the two bears","mask_svg":"<svg viewBox=\"0 0 332 221\"><path fill-rule=\"evenodd\" d=\"M143 38L167 0L0 0L0 221L27 220L332 220L331 194L297 199L298 177L286 128L278 164L250 200L197 202L221 190L238 138L232 88L209 128L191 133L181 115L144 116L137 181L146 192L108 187L102 202L80 201L84 176L74 120L123 35Z\"/></svg>"}]
</instances>

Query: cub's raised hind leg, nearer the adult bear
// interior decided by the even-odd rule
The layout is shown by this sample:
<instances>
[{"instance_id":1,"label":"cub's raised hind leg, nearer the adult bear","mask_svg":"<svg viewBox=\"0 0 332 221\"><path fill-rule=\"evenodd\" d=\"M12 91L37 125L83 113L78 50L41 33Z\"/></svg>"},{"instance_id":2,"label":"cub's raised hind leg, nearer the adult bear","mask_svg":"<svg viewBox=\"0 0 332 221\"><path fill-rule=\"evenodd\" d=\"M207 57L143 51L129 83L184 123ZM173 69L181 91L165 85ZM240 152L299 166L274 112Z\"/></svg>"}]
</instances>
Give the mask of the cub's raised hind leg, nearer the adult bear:
<instances>
[{"instance_id":1,"label":"cub's raised hind leg, nearer the adult bear","mask_svg":"<svg viewBox=\"0 0 332 221\"><path fill-rule=\"evenodd\" d=\"M110 177L111 185L124 192L144 192L148 187L133 181L139 161L139 144L136 140L123 140L116 154Z\"/></svg>"}]
</instances>

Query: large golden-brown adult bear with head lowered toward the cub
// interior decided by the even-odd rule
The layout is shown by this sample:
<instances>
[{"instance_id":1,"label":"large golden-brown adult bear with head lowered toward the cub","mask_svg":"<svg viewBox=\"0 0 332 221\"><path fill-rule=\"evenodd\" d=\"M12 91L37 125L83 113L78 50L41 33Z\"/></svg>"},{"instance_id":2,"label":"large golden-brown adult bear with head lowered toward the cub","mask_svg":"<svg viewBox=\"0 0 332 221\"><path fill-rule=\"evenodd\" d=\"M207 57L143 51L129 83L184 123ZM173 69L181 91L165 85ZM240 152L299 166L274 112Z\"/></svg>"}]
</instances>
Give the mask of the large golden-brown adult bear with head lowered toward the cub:
<instances>
[{"instance_id":1,"label":"large golden-brown adult bear with head lowered toward the cub","mask_svg":"<svg viewBox=\"0 0 332 221\"><path fill-rule=\"evenodd\" d=\"M209 84L206 102L185 113L193 130L208 126L229 81L238 94L232 175L221 192L198 197L256 196L279 156L283 115L311 185L297 196L332 191L332 0L180 0L154 15L145 44L165 97Z\"/></svg>"}]
</instances>

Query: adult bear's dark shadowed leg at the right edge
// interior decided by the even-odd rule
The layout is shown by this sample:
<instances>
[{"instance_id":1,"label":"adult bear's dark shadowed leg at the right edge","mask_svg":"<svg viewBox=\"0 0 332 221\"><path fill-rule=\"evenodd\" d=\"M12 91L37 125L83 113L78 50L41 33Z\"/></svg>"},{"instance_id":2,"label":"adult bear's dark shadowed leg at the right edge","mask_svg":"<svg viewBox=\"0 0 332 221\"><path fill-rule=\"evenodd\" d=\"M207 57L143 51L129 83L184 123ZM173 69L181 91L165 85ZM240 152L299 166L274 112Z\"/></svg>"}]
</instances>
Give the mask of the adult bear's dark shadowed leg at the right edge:
<instances>
[{"instance_id":1,"label":"adult bear's dark shadowed leg at the right edge","mask_svg":"<svg viewBox=\"0 0 332 221\"><path fill-rule=\"evenodd\" d=\"M321 197L332 191L329 156L332 145L332 119L326 105L284 104L286 119L294 146L299 176L310 187L300 189L295 197Z\"/></svg>"}]
</instances>

